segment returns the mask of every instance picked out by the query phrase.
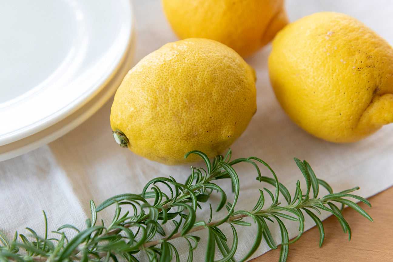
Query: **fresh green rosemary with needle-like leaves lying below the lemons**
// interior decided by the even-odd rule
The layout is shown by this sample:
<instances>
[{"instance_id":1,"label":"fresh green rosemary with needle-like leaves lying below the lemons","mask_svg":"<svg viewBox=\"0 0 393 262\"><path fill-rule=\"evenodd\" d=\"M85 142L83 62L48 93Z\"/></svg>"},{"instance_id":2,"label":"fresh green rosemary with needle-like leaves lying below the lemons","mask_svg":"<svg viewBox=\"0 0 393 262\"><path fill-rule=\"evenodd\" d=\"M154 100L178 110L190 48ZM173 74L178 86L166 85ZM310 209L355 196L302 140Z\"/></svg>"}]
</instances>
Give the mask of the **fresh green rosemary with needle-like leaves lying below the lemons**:
<instances>
[{"instance_id":1,"label":"fresh green rosemary with needle-like leaves lying below the lemons","mask_svg":"<svg viewBox=\"0 0 393 262\"><path fill-rule=\"evenodd\" d=\"M301 170L305 182L306 192L303 194L299 180L296 183L296 191L293 198L288 189L279 183L276 174L270 166L263 160L255 157L239 158L231 161L231 150L225 156L217 156L212 163L206 154L200 151L191 151L186 154L199 155L206 164L206 169L191 167L191 175L185 183L178 183L173 177L154 178L144 187L141 194L121 194L105 200L98 207L90 201L92 218L86 220L86 229L79 230L72 225L63 225L52 233L59 234L59 238L48 238L48 224L46 214L45 235L40 237L30 228L30 240L18 233L15 233L13 241L9 241L0 232L0 261L109 261L117 262L118 259L130 262L138 262L141 255L145 254L151 262L180 261L180 254L173 244L174 239L180 239L188 245L187 262L193 261L193 250L198 246L200 238L193 233L199 230L208 232L208 242L206 248L206 262L213 262L215 254L221 254L218 261L235 261L238 235L237 227L256 226L257 233L253 246L248 254L241 259L247 260L259 247L262 241L276 249L277 244L269 230L267 221L277 222L281 231L281 253L279 261L286 261L288 256L288 245L298 240L304 231L304 214L307 214L315 221L320 231L320 246L324 238L324 229L321 220L315 214L320 214L320 210L329 211L334 214L343 231L349 234L351 239L351 228L342 216L344 205L347 205L358 213L372 221L371 217L355 202L348 198L353 198L371 206L370 203L360 196L349 194L357 189L349 189L339 193L333 193L329 184L316 178L309 163L295 158L295 162ZM260 196L252 210L236 210L236 203L239 198L239 178L233 166L237 163L246 162L253 165L257 171L257 180L271 184L275 191L271 192L267 188L259 190ZM266 167L273 178L262 176L258 165ZM234 199L232 203L227 202L226 192L219 187L215 180L229 179L232 184ZM318 198L319 186L325 187L329 194ZM209 196L213 192L220 194L220 203L216 209L219 212L224 207L227 209L226 215L217 221L211 221L213 210L209 205L209 220L196 221L196 211L201 209L201 203L208 202ZM267 193L272 202L267 207L265 205L264 194ZM310 193L312 195L310 196ZM279 195L286 201L285 204L279 202ZM341 204L339 208L334 202ZM97 212L115 205L115 214L110 225L105 226L103 220L101 225L97 225ZM128 207L127 211L123 211ZM252 222L246 222L244 218L252 218ZM284 220L294 220L299 223L299 235L293 240L289 240L288 231L283 223ZM173 229L163 229L165 223L171 221ZM220 225L229 224L233 240L231 247L228 246L228 239L220 230ZM69 239L64 229L72 229L75 236ZM18 239L18 236L20 240Z\"/></svg>"}]
</instances>

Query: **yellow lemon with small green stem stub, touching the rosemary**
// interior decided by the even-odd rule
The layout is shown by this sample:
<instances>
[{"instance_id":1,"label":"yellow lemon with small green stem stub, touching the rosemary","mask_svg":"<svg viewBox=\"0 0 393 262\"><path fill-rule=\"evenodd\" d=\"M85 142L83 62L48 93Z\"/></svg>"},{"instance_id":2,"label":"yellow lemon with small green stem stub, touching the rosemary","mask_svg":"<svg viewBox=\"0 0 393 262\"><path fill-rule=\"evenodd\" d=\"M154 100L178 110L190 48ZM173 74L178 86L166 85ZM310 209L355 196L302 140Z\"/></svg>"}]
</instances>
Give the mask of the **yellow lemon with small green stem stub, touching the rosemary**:
<instances>
[{"instance_id":1,"label":"yellow lemon with small green stem stub, touching the rosemary","mask_svg":"<svg viewBox=\"0 0 393 262\"><path fill-rule=\"evenodd\" d=\"M184 158L191 150L217 156L255 113L255 80L253 68L217 41L165 44L141 59L116 91L110 112L114 137L167 165L199 161L194 154Z\"/></svg>"}]
</instances>

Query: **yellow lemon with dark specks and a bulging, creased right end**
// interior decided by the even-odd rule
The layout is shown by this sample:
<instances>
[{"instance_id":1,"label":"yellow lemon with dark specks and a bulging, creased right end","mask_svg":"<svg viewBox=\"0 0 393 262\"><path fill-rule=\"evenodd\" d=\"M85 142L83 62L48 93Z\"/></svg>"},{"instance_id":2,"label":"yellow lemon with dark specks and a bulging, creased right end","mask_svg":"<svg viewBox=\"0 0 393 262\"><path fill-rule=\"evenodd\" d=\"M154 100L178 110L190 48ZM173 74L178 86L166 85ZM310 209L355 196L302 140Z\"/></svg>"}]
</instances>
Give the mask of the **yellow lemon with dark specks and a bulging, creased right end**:
<instances>
[{"instance_id":1,"label":"yellow lemon with dark specks and a bulging, creased right end","mask_svg":"<svg viewBox=\"0 0 393 262\"><path fill-rule=\"evenodd\" d=\"M393 122L393 49L351 16L321 12L289 24L268 68L285 112L314 136L354 142Z\"/></svg>"}]
</instances>

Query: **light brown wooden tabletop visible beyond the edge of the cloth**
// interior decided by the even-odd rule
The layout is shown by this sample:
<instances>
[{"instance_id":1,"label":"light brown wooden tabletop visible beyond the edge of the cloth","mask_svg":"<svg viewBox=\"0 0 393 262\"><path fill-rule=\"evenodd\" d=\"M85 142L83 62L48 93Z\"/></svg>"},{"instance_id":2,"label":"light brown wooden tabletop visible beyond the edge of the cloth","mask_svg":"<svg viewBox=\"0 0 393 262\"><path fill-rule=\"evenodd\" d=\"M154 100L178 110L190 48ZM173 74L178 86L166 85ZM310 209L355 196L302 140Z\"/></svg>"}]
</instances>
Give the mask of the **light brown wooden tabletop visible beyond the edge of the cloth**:
<instances>
[{"instance_id":1,"label":"light brown wooden tabletop visible beyond the edge of the cloth","mask_svg":"<svg viewBox=\"0 0 393 262\"><path fill-rule=\"evenodd\" d=\"M313 227L298 242L290 244L287 262L393 262L393 187L368 199L372 208L360 206L374 222L350 208L343 211L352 229L351 241L344 234L335 216L323 221L325 240L318 247L319 231ZM280 247L251 262L278 261Z\"/></svg>"}]
</instances>

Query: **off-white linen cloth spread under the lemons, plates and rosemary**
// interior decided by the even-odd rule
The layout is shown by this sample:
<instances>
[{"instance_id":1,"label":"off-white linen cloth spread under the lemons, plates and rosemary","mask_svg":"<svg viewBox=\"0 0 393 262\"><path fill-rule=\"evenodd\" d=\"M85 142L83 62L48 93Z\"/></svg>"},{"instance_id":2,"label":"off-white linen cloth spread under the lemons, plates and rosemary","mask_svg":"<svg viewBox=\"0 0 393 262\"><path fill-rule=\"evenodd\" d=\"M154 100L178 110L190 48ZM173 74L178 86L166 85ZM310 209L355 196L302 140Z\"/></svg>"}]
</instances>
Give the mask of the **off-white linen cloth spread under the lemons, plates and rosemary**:
<instances>
[{"instance_id":1,"label":"off-white linen cloth spread under the lemons, plates and rosemary","mask_svg":"<svg viewBox=\"0 0 393 262\"><path fill-rule=\"evenodd\" d=\"M133 5L137 26L136 64L163 44L178 39L165 20L158 0L135 0ZM317 11L347 13L393 43L393 18L388 15L393 11L393 3L389 0L288 0L286 10L290 21ZM279 181L288 187L291 194L295 191L297 180L300 180L302 188L305 187L294 157L306 159L317 177L330 183L334 192L360 186L355 194L369 197L391 187L393 125L384 126L372 136L350 144L330 143L307 134L286 116L275 99L268 79L267 57L270 50L268 45L246 59L257 72L258 109L247 130L231 146L233 159L249 156L263 159L275 170ZM52 143L0 162L0 231L9 239L13 239L15 231L28 235L25 227L31 227L43 235L42 210L48 217L49 230L63 224L83 229L84 221L90 217L90 199L98 205L116 194L139 194L145 183L157 176L170 175L177 181L187 178L189 165L166 166L120 148L112 137L109 125L111 103L112 98L82 125ZM258 189L268 185L256 182L257 174L251 165L239 165L235 169L241 189L237 210L252 209L259 197ZM261 167L261 170L264 176L270 176L267 169ZM223 183L222 187L226 192L231 192L230 183ZM323 193L326 192L321 190L320 196ZM228 201L232 200L233 196L228 194ZM200 218L204 215L206 218L206 213L198 214ZM105 221L112 219L112 215L113 209L98 214ZM328 216L329 213L322 213L320 218L323 220ZM290 238L296 236L296 222L285 224ZM313 225L314 222L306 216L306 229ZM277 223L269 226L276 243L280 243ZM245 255L252 246L255 228L253 225L238 230L237 257ZM230 228L224 226L222 230L231 236ZM197 235L202 239L194 251L196 262L204 261L207 241L206 232L201 231ZM186 243L174 243L179 251L184 251L182 261L185 261ZM262 242L252 258L269 249Z\"/></svg>"}]
</instances>

